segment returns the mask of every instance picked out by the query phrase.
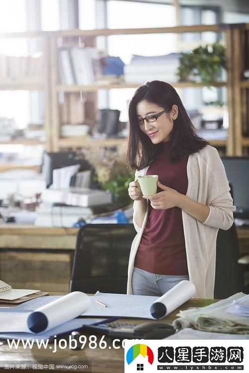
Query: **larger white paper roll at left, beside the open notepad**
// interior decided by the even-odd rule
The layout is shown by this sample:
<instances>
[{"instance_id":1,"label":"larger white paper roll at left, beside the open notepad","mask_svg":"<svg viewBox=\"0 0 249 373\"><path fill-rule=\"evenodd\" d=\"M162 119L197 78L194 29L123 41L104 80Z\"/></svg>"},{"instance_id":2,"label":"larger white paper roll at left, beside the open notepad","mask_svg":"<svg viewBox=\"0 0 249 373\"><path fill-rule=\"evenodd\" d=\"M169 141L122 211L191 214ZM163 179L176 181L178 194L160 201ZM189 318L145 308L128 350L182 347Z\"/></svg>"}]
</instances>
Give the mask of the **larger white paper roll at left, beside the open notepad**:
<instances>
[{"instance_id":1,"label":"larger white paper roll at left, beside the open notepad","mask_svg":"<svg viewBox=\"0 0 249 373\"><path fill-rule=\"evenodd\" d=\"M86 312L90 304L87 294L73 291L32 312L27 320L28 328L34 333L55 328Z\"/></svg>"}]
</instances>

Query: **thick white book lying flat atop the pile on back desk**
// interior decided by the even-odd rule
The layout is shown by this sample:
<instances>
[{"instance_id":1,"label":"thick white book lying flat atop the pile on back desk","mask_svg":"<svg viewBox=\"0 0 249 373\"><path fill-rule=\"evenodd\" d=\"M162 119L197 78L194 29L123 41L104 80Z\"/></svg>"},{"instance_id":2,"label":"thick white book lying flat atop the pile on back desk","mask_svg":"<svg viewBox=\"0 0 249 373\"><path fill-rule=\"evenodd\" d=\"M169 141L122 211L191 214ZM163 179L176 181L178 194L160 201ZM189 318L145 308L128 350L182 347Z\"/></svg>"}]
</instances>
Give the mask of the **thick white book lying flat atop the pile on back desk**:
<instances>
[{"instance_id":1,"label":"thick white book lying flat atop the pile on back desk","mask_svg":"<svg viewBox=\"0 0 249 373\"><path fill-rule=\"evenodd\" d=\"M105 190L70 187L67 189L44 189L42 201L59 202L72 206L95 206L112 202L112 194Z\"/></svg>"}]
</instances>

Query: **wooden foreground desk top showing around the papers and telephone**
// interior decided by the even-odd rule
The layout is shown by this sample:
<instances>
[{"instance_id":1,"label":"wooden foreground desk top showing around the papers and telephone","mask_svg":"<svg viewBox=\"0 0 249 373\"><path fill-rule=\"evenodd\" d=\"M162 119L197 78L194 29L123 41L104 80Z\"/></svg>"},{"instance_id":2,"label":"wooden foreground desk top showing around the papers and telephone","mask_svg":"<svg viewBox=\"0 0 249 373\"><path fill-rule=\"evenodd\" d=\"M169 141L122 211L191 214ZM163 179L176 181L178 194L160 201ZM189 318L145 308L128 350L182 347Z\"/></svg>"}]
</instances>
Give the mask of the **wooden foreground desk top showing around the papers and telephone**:
<instances>
[{"instance_id":1,"label":"wooden foreground desk top showing around the papers and telephone","mask_svg":"<svg viewBox=\"0 0 249 373\"><path fill-rule=\"evenodd\" d=\"M214 299L191 299L188 302L184 303L181 307L176 309L174 312L171 312L170 315L166 316L163 321L172 323L172 321L177 317L176 314L179 310L187 309L188 307L203 307L215 302ZM141 323L145 322L145 319L123 319L127 322ZM162 320L160 320L162 321ZM157 321L155 321L157 322ZM100 337L101 338L101 337ZM99 339L100 339L99 338ZM108 347L112 346L112 340L108 337L104 339L107 342ZM88 340L89 342L89 340ZM64 350L57 350L56 353L52 353L53 343L50 345L51 349L38 349L33 347L32 350L23 349L19 347L17 350L9 350L8 345L4 344L0 346L0 371L1 367L4 365L4 361L14 361L21 364L22 361L34 361L34 362L52 362L60 361L64 362L79 362L84 363L89 361L92 363L92 373L123 373L124 372L124 350L120 348L115 350L113 348L107 348L101 350L90 349L86 347L80 351L70 350L69 348ZM72 363L73 364L73 363ZM25 372L28 372L25 370ZM33 371L34 372L34 371ZM45 371L44 371L45 372ZM58 371L57 371L58 372ZM63 371L65 372L65 371ZM69 370L67 372L70 372ZM72 371L75 372L75 371ZM82 371L81 371L82 372ZM88 372L88 371L86 371ZM90 371L91 372L91 371Z\"/></svg>"}]
</instances>

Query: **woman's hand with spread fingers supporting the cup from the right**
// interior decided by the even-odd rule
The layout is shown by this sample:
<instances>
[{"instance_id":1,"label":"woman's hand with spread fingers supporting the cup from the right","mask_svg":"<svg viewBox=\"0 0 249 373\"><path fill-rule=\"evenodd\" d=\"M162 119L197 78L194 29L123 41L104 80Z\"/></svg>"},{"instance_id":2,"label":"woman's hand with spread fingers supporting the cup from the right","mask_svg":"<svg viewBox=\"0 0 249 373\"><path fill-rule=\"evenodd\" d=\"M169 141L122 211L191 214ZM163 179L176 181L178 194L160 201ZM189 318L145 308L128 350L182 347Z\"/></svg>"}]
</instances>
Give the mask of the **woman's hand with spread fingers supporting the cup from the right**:
<instances>
[{"instance_id":1,"label":"woman's hand with spread fingers supporting the cup from the right","mask_svg":"<svg viewBox=\"0 0 249 373\"><path fill-rule=\"evenodd\" d=\"M181 193L175 189L166 187L160 182L157 182L157 186L162 189L162 191L153 195L143 196L143 198L150 200L151 207L156 210L161 210L177 206Z\"/></svg>"}]
</instances>

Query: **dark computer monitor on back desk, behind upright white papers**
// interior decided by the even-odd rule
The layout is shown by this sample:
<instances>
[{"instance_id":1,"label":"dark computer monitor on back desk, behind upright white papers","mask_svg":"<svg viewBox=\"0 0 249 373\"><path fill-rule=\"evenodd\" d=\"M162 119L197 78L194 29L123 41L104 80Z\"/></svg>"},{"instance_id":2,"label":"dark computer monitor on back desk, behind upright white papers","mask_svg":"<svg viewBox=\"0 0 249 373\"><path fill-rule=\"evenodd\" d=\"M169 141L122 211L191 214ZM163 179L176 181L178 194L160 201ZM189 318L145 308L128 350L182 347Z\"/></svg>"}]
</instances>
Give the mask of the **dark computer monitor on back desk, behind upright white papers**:
<instances>
[{"instance_id":1,"label":"dark computer monitor on back desk, behind upright white papers","mask_svg":"<svg viewBox=\"0 0 249 373\"><path fill-rule=\"evenodd\" d=\"M45 152L43 155L42 173L45 175L46 187L53 184L53 170L77 164L81 166L79 171L91 169L86 160L77 159L76 152Z\"/></svg>"}]
</instances>

